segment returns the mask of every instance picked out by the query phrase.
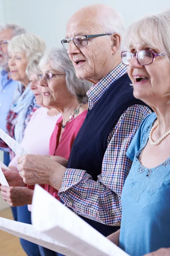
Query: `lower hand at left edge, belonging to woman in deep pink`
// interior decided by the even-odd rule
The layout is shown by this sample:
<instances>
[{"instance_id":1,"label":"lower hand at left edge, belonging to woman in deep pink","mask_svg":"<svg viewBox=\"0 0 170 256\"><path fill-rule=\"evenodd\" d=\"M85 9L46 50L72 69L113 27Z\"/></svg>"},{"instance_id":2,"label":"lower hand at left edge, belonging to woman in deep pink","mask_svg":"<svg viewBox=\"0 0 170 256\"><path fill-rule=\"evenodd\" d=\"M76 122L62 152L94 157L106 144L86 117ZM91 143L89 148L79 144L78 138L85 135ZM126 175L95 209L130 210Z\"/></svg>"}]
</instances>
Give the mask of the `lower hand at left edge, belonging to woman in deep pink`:
<instances>
[{"instance_id":1,"label":"lower hand at left edge, belonging to woman in deep pink","mask_svg":"<svg viewBox=\"0 0 170 256\"><path fill-rule=\"evenodd\" d=\"M33 190L27 187L1 186L3 199L13 207L32 203Z\"/></svg>"}]
</instances>

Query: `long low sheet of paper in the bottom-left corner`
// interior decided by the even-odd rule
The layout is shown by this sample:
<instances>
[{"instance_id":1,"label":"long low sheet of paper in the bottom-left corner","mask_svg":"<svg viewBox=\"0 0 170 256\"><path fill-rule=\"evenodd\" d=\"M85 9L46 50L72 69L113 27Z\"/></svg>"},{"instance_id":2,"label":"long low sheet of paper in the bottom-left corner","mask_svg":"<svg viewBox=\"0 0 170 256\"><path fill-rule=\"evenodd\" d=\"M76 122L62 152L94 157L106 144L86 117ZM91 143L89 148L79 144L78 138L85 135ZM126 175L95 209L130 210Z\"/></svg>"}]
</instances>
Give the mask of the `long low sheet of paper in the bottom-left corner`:
<instances>
[{"instance_id":1,"label":"long low sheet of paper in the bottom-left corner","mask_svg":"<svg viewBox=\"0 0 170 256\"><path fill-rule=\"evenodd\" d=\"M6 231L14 236L26 239L35 244L44 246L55 252L62 253L68 256L79 256L68 249L64 244L57 242L51 237L37 232L30 224L25 224L17 221L8 220L0 217L0 230ZM9 241L10 242L10 241Z\"/></svg>"}]
</instances>

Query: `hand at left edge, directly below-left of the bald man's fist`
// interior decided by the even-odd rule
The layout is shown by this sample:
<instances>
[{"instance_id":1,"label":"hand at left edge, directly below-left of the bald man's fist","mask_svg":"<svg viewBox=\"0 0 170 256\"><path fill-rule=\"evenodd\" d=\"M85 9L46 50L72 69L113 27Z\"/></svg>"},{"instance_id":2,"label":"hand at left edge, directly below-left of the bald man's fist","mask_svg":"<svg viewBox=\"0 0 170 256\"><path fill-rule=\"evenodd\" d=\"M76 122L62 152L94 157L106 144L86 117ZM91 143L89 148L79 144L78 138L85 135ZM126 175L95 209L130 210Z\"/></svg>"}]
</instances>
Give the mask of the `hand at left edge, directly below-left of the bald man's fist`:
<instances>
[{"instance_id":1,"label":"hand at left edge, directly below-left of the bald man's fist","mask_svg":"<svg viewBox=\"0 0 170 256\"><path fill-rule=\"evenodd\" d=\"M1 168L9 186L26 186L18 171ZM0 184L1 185L1 184Z\"/></svg>"}]
</instances>

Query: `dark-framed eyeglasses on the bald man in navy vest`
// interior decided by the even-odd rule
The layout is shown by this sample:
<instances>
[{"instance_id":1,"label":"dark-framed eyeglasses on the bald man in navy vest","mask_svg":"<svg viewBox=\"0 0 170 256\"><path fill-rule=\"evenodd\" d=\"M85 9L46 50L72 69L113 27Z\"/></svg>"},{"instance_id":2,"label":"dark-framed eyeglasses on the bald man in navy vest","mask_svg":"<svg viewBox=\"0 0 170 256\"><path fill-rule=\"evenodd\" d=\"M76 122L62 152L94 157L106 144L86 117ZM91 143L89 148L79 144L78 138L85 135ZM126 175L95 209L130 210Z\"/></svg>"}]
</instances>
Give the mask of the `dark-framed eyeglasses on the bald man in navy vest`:
<instances>
[{"instance_id":1,"label":"dark-framed eyeglasses on the bald man in navy vest","mask_svg":"<svg viewBox=\"0 0 170 256\"><path fill-rule=\"evenodd\" d=\"M61 43L65 50L68 50L68 44L70 44L71 40L74 41L74 44L77 47L85 47L88 45L88 38L94 38L94 37L99 37L99 36L104 36L104 35L112 35L112 34L78 35L73 38L63 39L61 41Z\"/></svg>"}]
</instances>

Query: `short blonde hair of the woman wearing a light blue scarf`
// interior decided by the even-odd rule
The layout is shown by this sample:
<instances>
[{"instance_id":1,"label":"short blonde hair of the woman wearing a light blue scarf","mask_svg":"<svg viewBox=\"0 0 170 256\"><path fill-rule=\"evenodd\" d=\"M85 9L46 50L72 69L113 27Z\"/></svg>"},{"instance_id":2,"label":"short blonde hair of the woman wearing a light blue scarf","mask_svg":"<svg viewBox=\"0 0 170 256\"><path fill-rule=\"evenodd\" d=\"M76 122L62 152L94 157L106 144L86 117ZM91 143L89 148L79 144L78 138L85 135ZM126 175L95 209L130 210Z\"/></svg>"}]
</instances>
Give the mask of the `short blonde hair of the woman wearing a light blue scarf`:
<instances>
[{"instance_id":1,"label":"short blonde hair of the woman wearing a light blue scarf","mask_svg":"<svg viewBox=\"0 0 170 256\"><path fill-rule=\"evenodd\" d=\"M38 35L25 33L13 37L8 43L8 52L25 52L28 60L36 52L44 52L46 48L45 41Z\"/></svg>"}]
</instances>

